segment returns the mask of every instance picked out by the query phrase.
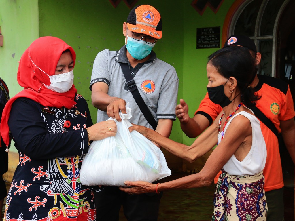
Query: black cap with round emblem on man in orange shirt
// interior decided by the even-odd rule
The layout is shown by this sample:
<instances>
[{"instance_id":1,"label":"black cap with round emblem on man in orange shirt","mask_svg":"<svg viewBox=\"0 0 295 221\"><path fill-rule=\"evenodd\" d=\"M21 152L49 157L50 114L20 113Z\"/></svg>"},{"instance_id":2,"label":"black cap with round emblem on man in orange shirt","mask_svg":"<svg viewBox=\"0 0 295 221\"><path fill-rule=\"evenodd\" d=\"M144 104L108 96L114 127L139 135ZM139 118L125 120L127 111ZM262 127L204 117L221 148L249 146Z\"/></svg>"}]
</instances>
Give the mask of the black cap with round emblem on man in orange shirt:
<instances>
[{"instance_id":1,"label":"black cap with round emblem on man in orange shirt","mask_svg":"<svg viewBox=\"0 0 295 221\"><path fill-rule=\"evenodd\" d=\"M229 47L229 46L232 46L232 45L246 47L249 50L252 50L255 53L257 53L256 45L254 44L254 41L251 38L249 38L249 37L247 37L245 35L239 35L239 34L231 35L226 40L223 47Z\"/></svg>"}]
</instances>

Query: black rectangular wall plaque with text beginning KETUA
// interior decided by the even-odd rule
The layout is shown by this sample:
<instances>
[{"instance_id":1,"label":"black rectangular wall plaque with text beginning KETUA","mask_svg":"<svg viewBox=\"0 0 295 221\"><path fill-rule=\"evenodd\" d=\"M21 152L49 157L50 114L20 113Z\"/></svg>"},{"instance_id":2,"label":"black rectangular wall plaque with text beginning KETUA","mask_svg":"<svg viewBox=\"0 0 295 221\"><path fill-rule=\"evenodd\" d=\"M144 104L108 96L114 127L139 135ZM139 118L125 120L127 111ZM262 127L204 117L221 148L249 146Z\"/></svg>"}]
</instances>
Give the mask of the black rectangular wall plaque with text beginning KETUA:
<instances>
[{"instance_id":1,"label":"black rectangular wall plaque with text beginning KETUA","mask_svg":"<svg viewBox=\"0 0 295 221\"><path fill-rule=\"evenodd\" d=\"M197 49L219 47L220 27L197 28Z\"/></svg>"}]
</instances>

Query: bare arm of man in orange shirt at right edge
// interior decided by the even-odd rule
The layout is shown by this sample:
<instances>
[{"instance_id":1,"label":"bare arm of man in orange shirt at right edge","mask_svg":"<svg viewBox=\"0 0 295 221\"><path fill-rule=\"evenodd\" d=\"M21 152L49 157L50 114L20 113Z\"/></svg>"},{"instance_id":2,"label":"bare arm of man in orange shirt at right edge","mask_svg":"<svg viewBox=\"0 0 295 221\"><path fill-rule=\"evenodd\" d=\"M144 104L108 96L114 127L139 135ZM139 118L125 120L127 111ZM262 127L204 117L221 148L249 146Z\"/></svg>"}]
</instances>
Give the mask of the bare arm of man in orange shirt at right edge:
<instances>
[{"instance_id":1,"label":"bare arm of man in orange shirt at right edge","mask_svg":"<svg viewBox=\"0 0 295 221\"><path fill-rule=\"evenodd\" d=\"M282 130L282 136L286 148L292 158L293 163L295 163L295 121L291 118L287 121L280 121L280 128Z\"/></svg>"}]
</instances>

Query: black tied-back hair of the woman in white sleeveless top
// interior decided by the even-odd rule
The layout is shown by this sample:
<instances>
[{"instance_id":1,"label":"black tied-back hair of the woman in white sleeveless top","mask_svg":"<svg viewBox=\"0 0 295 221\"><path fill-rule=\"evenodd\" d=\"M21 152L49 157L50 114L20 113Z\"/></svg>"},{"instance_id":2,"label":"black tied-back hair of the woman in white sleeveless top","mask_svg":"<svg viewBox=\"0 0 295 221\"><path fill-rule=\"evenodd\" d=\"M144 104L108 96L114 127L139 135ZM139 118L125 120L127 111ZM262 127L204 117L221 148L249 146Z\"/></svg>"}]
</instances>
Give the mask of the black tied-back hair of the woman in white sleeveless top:
<instances>
[{"instance_id":1,"label":"black tied-back hair of the woman in white sleeveless top","mask_svg":"<svg viewBox=\"0 0 295 221\"><path fill-rule=\"evenodd\" d=\"M249 85L254 80L257 67L255 58L246 47L224 47L208 57L216 70L225 78L235 77L241 99L246 106L254 106L260 96Z\"/></svg>"}]
</instances>

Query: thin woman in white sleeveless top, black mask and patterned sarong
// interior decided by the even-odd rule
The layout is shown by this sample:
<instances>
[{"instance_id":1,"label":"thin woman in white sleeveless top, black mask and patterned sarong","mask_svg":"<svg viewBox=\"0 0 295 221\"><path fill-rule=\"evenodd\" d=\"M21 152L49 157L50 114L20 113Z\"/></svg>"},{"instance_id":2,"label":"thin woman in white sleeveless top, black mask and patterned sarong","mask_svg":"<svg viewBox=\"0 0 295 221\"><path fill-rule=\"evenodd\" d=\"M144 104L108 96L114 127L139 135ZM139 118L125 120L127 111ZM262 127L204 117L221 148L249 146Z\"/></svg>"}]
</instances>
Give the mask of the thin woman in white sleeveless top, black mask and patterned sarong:
<instances>
[{"instance_id":1,"label":"thin woman in white sleeveless top, black mask and patterned sarong","mask_svg":"<svg viewBox=\"0 0 295 221\"><path fill-rule=\"evenodd\" d=\"M255 62L247 48L226 47L209 56L207 90L212 102L223 111L191 146L176 143L143 126L130 127L172 154L195 161L218 145L203 169L166 183L125 182L121 190L138 194L168 189L203 187L212 183L220 169L215 188L212 220L266 220L263 168L266 145L260 123L244 107L259 99L250 87L256 74ZM131 187L131 188L129 188Z\"/></svg>"}]
</instances>

